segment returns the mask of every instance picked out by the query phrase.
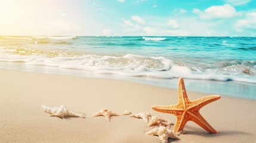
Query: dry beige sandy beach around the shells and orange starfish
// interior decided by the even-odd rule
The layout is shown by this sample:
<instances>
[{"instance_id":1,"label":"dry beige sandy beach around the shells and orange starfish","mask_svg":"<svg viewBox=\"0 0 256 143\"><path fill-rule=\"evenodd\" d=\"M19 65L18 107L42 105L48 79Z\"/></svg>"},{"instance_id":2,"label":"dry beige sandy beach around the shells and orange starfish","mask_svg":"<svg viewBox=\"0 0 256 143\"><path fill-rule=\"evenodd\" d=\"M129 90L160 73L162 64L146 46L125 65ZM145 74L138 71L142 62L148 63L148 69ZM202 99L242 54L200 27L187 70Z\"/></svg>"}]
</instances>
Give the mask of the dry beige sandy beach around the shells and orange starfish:
<instances>
[{"instance_id":1,"label":"dry beige sandy beach around the shells and orange starfish","mask_svg":"<svg viewBox=\"0 0 256 143\"><path fill-rule=\"evenodd\" d=\"M185 79L186 84L186 79ZM209 94L187 91L190 100ZM92 117L101 109L116 113L131 110L175 122L175 116L153 111L152 105L178 101L177 90L114 79L93 79L57 74L0 70L0 142L161 142L146 135L142 119L128 116ZM86 118L50 117L41 105L64 104ZM218 134L209 134L188 122L177 142L255 142L256 101L221 96L201 109ZM171 142L176 142L171 140Z\"/></svg>"}]
</instances>

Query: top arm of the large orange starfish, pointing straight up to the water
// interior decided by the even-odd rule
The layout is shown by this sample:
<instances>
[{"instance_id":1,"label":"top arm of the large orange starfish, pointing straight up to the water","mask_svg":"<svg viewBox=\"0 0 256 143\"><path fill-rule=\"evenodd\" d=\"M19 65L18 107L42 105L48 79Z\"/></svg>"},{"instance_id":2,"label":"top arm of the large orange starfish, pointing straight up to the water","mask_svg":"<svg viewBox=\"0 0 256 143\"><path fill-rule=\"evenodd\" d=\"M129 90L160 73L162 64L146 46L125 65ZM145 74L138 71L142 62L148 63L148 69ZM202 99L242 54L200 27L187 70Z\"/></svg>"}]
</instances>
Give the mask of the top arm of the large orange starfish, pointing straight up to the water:
<instances>
[{"instance_id":1,"label":"top arm of the large orange starfish, pointing straight up to the water","mask_svg":"<svg viewBox=\"0 0 256 143\"><path fill-rule=\"evenodd\" d=\"M187 97L184 80L180 77L178 79L178 104L182 104L186 108L186 102L189 102L189 97Z\"/></svg>"}]
</instances>

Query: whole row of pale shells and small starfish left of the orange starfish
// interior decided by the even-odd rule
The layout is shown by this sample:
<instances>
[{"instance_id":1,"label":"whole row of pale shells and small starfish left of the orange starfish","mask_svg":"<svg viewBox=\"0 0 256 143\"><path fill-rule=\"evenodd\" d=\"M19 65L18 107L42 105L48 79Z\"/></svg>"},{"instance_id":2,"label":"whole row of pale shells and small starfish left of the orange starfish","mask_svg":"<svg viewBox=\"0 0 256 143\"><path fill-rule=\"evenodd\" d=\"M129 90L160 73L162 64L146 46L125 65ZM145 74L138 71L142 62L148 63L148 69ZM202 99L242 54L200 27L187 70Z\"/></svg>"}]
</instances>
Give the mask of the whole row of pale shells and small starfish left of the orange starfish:
<instances>
[{"instance_id":1,"label":"whole row of pale shells and small starfish left of the orange starfish","mask_svg":"<svg viewBox=\"0 0 256 143\"><path fill-rule=\"evenodd\" d=\"M76 114L73 113L72 111L67 110L67 108L64 105L61 105L60 107L47 107L46 105L42 105L42 108L44 109L45 112L51 114L51 116L57 116L61 117L64 119L65 116L72 116L72 117L81 117L85 118L84 114ZM174 133L172 130L170 130L171 126L174 125L173 123L168 123L167 120L162 119L161 117L158 116L152 116L149 113L137 113L137 114L132 114L131 111L125 110L122 115L126 115L129 117L135 117L138 119L143 119L144 122L148 123L148 127L150 126L155 126L155 128L145 132L147 135L157 135L159 136L159 139L161 140L162 143L168 142L168 138L173 138L173 139L179 139L178 135L180 133ZM104 109L98 111L96 114L93 115L93 117L98 117L98 116L104 116L107 122L110 122L110 117L111 116L119 116L118 113L115 113L113 111Z\"/></svg>"}]
</instances>

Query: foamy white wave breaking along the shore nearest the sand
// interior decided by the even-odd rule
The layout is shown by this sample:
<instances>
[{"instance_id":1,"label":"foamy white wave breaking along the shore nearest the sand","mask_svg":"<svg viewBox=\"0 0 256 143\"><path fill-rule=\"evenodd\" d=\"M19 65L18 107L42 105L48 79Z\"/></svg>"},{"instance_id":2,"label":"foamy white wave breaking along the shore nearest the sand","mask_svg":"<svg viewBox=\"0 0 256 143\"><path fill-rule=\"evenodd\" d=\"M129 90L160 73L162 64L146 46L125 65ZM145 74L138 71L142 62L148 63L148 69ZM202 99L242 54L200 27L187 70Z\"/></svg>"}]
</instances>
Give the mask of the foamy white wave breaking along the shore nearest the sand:
<instances>
[{"instance_id":1,"label":"foamy white wave breaking along the shore nearest the sand","mask_svg":"<svg viewBox=\"0 0 256 143\"><path fill-rule=\"evenodd\" d=\"M30 65L53 66L60 69L85 70L121 76L149 76L164 79L182 76L187 79L235 80L256 83L255 69L248 69L248 67L241 65L229 66L226 69L192 70L186 66L178 66L174 61L165 57L143 57L134 54L127 54L122 57L95 54L79 56L62 54L61 56L60 53L56 54L55 57L46 57L42 54L22 54L22 52L21 54L0 52L0 61L23 62ZM240 74L241 72L244 74Z\"/></svg>"}]
</instances>

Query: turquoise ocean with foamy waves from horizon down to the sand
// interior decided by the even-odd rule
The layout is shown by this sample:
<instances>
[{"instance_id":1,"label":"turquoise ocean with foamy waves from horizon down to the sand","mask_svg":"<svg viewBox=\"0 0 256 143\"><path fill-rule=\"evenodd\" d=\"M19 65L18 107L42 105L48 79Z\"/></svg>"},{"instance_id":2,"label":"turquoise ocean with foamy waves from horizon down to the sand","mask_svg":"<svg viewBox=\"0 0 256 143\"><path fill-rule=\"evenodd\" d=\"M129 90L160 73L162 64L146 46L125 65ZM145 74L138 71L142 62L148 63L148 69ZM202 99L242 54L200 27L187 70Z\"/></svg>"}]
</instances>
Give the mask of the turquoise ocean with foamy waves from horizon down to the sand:
<instances>
[{"instance_id":1,"label":"turquoise ocean with foamy waves from horizon down to the sand","mask_svg":"<svg viewBox=\"0 0 256 143\"><path fill-rule=\"evenodd\" d=\"M0 68L164 87L183 77L194 91L256 99L255 37L0 36Z\"/></svg>"}]
</instances>

